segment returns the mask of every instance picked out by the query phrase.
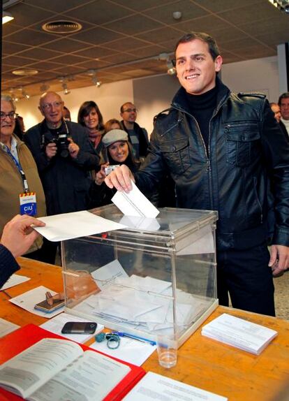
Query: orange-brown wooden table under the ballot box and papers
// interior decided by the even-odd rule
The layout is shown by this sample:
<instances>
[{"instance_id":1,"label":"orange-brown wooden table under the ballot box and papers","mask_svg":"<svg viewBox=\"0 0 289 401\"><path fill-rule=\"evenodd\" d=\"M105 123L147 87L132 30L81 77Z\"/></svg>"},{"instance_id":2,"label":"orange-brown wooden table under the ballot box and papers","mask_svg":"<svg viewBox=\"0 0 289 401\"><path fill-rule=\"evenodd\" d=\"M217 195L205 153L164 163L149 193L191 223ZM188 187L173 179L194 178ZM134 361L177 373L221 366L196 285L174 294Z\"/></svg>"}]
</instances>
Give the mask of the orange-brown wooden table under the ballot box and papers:
<instances>
[{"instance_id":1,"label":"orange-brown wooden table under the ballot box and papers","mask_svg":"<svg viewBox=\"0 0 289 401\"><path fill-rule=\"evenodd\" d=\"M61 291L61 268L27 258L18 259L22 270L17 274L31 277L6 292L14 297L45 285L54 291ZM0 291L1 317L24 326L27 323L39 325L45 318L36 316L8 302L8 296ZM222 313L230 313L278 331L278 336L262 351L260 356L229 347L210 340L195 331L178 351L176 367L167 370L158 365L156 352L144 363L146 371L156 372L207 391L223 395L230 401L271 401L283 384L289 381L289 321L239 309L218 307L208 321Z\"/></svg>"}]
</instances>

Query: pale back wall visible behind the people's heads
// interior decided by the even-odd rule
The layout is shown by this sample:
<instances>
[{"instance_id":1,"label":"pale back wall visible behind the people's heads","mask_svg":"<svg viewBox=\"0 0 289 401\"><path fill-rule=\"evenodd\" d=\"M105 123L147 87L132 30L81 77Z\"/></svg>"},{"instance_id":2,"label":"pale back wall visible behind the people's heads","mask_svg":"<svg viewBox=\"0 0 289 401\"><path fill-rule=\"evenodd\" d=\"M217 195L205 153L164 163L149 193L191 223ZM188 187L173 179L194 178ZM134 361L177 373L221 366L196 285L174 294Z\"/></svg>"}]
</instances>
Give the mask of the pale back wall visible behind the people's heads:
<instances>
[{"instance_id":1,"label":"pale back wall visible behind the people's heads","mask_svg":"<svg viewBox=\"0 0 289 401\"><path fill-rule=\"evenodd\" d=\"M222 68L222 80L234 92L263 92L267 94L269 101L277 101L279 98L278 59L266 57L225 64ZM165 74L112 82L98 88L91 86L73 89L70 94L61 96L65 105L71 110L71 117L75 122L78 109L84 101L96 101L104 121L110 118L120 119L120 105L126 101L132 101L139 110L138 124L144 126L150 134L154 115L169 107L178 88L177 78ZM38 110L38 101L39 96L34 96L17 103L17 112L24 118L26 129L42 119Z\"/></svg>"}]
</instances>

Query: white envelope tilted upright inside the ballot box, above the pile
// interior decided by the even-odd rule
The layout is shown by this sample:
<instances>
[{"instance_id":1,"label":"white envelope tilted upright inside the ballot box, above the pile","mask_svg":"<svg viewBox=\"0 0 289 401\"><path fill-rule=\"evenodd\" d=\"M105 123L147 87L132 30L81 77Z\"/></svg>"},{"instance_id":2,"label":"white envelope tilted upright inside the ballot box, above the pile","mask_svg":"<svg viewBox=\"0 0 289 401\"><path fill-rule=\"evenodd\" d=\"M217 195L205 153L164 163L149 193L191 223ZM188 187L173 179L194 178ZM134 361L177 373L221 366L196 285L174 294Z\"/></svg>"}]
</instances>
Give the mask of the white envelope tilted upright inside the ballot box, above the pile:
<instances>
[{"instance_id":1,"label":"white envelope tilted upright inside the ballot box, above the pile","mask_svg":"<svg viewBox=\"0 0 289 401\"><path fill-rule=\"evenodd\" d=\"M119 277L128 277L117 259L94 270L94 272L91 272L91 276L101 290L112 285Z\"/></svg>"}]
</instances>

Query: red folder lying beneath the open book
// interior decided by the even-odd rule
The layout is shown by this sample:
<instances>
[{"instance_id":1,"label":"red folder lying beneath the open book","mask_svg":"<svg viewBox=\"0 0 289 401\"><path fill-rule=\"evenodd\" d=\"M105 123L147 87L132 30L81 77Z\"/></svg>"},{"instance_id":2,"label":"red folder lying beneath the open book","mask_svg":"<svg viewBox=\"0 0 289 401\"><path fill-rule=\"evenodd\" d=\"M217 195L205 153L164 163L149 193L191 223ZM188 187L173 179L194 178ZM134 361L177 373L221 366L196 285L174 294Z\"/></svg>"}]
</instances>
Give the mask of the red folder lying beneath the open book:
<instances>
[{"instance_id":1,"label":"red folder lying beneath the open book","mask_svg":"<svg viewBox=\"0 0 289 401\"><path fill-rule=\"evenodd\" d=\"M50 333L50 331L44 330L44 328L40 328L35 326L34 324L27 324L22 328L18 328L18 330L13 331L2 337L0 339L0 365L6 360L13 358L13 356L17 355L18 353L24 351L31 347L31 345L35 344L36 342L42 340L43 338L64 338L60 335ZM67 339L66 339L67 340ZM87 347L87 345L80 344L80 347L84 351L90 349L91 351L96 351L95 349L91 349ZM101 353L101 352L100 352ZM108 356L108 358L112 358ZM124 365L128 365L131 368L131 371L126 374L126 377L122 379L117 386L114 387L110 393L103 398L103 401L119 401L124 398L124 395L128 393L138 383L138 381L144 376L145 371L142 367L132 365L131 363L125 362L124 360L119 360L117 358L112 358L118 360L119 362L123 363ZM19 401L23 400L23 398L10 393L9 391L0 388L0 401Z\"/></svg>"}]
</instances>

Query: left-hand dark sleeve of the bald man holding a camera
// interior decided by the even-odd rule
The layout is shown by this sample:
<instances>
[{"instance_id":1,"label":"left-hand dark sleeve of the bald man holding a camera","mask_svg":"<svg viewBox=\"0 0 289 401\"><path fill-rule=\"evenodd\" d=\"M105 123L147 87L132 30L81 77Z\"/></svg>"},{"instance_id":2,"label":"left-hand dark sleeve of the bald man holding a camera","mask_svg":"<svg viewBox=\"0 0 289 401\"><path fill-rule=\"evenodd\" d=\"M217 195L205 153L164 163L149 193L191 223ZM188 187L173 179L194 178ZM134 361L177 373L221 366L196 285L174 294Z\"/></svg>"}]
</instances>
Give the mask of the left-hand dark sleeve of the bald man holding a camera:
<instances>
[{"instance_id":1,"label":"left-hand dark sleeve of the bald man holding a camera","mask_svg":"<svg viewBox=\"0 0 289 401\"><path fill-rule=\"evenodd\" d=\"M38 133L35 129L29 129L24 135L24 142L29 147L32 156L34 156L39 172L50 166L53 158L51 160L47 159L45 149L41 149L40 132Z\"/></svg>"}]
</instances>

